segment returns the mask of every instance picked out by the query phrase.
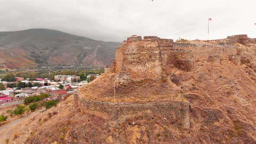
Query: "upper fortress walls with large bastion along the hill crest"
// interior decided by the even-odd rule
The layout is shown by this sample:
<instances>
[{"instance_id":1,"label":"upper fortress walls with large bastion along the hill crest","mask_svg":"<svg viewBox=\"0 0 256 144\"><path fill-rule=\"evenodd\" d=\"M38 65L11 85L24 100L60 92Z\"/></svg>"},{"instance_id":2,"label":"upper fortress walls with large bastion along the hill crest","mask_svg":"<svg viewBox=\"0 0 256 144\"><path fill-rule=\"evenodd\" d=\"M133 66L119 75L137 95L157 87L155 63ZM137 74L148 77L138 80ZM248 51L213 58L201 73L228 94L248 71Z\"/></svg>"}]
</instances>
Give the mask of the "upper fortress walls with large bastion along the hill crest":
<instances>
[{"instance_id":1,"label":"upper fortress walls with large bastion along the hill crest","mask_svg":"<svg viewBox=\"0 0 256 144\"><path fill-rule=\"evenodd\" d=\"M242 42L246 38L242 35L237 39ZM236 59L230 59L230 56ZM171 74L174 68L191 71L197 62L222 63L229 60L240 63L235 46L176 43L173 39L157 36L144 36L144 39L131 36L116 49L112 72L129 73L136 79L159 79Z\"/></svg>"}]
</instances>

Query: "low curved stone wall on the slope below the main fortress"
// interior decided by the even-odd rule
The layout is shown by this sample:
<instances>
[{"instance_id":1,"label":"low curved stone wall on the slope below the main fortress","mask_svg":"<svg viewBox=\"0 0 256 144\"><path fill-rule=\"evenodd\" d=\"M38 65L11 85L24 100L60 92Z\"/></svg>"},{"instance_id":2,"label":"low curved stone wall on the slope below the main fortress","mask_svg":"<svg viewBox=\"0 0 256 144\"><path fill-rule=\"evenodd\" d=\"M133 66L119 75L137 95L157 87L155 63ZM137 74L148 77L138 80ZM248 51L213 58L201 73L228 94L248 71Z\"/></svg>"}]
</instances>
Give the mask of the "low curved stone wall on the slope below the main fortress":
<instances>
[{"instance_id":1,"label":"low curved stone wall on the slope below the main fortress","mask_svg":"<svg viewBox=\"0 0 256 144\"><path fill-rule=\"evenodd\" d=\"M152 115L155 116L154 118L165 118L168 122L177 124L182 128L190 128L189 104L187 102L111 103L85 100L78 94L74 95L74 101L82 111L98 112L117 122Z\"/></svg>"}]
</instances>

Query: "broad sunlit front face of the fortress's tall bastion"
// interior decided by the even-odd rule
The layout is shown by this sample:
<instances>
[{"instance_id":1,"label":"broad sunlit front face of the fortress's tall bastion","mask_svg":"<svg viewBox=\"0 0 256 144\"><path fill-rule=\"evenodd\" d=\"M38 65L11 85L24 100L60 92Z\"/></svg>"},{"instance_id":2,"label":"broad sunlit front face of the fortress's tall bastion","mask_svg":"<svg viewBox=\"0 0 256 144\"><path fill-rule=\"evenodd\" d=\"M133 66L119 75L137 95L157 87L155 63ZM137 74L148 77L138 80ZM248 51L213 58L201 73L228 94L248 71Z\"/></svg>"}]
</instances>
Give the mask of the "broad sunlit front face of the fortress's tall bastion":
<instances>
[{"instance_id":1,"label":"broad sunlit front face of the fortress's tall bastion","mask_svg":"<svg viewBox=\"0 0 256 144\"><path fill-rule=\"evenodd\" d=\"M161 78L162 64L158 43L132 42L125 46L123 69L131 74L131 78Z\"/></svg>"}]
</instances>

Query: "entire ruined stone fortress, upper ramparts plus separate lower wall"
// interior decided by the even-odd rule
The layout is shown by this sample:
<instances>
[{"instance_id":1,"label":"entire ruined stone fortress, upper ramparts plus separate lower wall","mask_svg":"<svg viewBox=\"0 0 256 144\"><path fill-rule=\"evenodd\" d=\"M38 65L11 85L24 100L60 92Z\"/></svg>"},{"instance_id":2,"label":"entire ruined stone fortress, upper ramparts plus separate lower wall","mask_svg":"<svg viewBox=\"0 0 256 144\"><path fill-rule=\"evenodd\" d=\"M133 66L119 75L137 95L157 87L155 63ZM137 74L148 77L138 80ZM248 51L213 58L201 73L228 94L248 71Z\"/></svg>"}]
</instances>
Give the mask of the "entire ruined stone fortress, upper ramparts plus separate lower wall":
<instances>
[{"instance_id":1,"label":"entire ruined stone fortress, upper ramparts plus separate lower wall","mask_svg":"<svg viewBox=\"0 0 256 144\"><path fill-rule=\"evenodd\" d=\"M157 36L131 36L116 49L115 60L105 73L115 73L114 82L127 82L131 79L158 80L172 75L173 69L192 71L198 63L223 64L233 62L240 65L236 55L236 43L256 43L247 35L228 36L217 45L199 43L176 43L173 39L160 39ZM168 121L180 128L190 128L189 103L185 101L168 102L108 102L94 101L74 95L74 101L82 111L102 115L117 123L129 119L144 118L151 115ZM153 119L153 118L152 118Z\"/></svg>"}]
</instances>

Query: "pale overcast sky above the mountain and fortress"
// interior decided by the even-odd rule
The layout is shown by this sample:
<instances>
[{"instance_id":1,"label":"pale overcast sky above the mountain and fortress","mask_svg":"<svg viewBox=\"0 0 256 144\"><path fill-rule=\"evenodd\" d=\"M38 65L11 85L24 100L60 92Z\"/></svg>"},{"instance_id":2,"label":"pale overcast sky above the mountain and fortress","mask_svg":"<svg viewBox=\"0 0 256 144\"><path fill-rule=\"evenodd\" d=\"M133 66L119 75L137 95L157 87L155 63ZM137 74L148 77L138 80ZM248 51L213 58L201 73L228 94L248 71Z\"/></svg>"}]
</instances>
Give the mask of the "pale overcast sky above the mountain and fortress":
<instances>
[{"instance_id":1,"label":"pale overcast sky above the mountain and fortress","mask_svg":"<svg viewBox=\"0 0 256 144\"><path fill-rule=\"evenodd\" d=\"M121 42L131 35L174 39L256 38L256 0L0 0L0 31L56 29Z\"/></svg>"}]
</instances>

